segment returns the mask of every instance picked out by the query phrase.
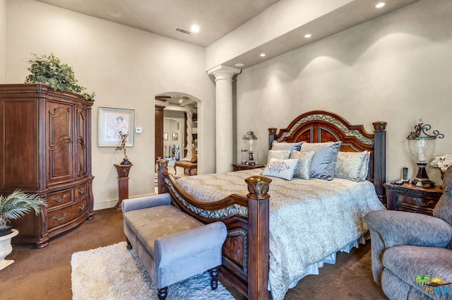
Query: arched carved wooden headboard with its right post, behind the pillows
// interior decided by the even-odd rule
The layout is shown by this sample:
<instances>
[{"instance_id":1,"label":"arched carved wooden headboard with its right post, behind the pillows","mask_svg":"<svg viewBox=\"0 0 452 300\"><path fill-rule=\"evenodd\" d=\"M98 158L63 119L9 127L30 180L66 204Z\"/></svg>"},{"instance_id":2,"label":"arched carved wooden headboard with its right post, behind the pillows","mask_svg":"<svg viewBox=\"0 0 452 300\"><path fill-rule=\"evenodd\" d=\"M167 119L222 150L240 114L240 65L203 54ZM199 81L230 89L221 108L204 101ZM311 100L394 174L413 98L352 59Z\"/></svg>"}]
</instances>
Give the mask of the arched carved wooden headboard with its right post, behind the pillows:
<instances>
[{"instance_id":1,"label":"arched carved wooden headboard with its right post, behind the pillows","mask_svg":"<svg viewBox=\"0 0 452 300\"><path fill-rule=\"evenodd\" d=\"M384 203L386 181L386 122L376 121L374 133L368 133L362 125L351 125L338 114L323 110L314 110L297 116L285 129L268 128L269 149L273 140L278 142L321 143L342 141L340 151L359 152L369 151L369 174L367 180L372 181L376 194Z\"/></svg>"}]
</instances>

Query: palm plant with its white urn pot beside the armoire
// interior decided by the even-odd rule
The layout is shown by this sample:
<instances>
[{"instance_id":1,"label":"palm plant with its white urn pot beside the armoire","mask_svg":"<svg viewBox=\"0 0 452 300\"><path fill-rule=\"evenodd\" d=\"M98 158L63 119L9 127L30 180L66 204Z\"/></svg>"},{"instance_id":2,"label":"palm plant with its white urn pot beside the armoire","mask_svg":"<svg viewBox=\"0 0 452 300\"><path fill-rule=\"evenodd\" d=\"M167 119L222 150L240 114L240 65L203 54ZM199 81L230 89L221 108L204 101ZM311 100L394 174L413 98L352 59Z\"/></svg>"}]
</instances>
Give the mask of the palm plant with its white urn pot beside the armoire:
<instances>
[{"instance_id":1,"label":"palm plant with its white urn pot beside the armoire","mask_svg":"<svg viewBox=\"0 0 452 300\"><path fill-rule=\"evenodd\" d=\"M14 263L14 260L5 260L13 251L11 239L18 235L18 230L12 229L11 220L18 220L30 210L35 210L37 215L41 212L42 205L47 206L44 199L20 190L13 191L6 197L0 195L0 270Z\"/></svg>"}]
</instances>

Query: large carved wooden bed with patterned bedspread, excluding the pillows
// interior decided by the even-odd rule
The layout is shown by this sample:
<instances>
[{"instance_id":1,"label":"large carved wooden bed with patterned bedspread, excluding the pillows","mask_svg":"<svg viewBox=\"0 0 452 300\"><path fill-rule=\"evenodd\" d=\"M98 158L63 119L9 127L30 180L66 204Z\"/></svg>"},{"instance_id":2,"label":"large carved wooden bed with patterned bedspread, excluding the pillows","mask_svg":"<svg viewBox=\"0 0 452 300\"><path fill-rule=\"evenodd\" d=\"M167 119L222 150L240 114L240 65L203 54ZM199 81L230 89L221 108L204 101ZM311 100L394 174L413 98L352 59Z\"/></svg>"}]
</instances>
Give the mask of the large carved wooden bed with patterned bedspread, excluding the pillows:
<instances>
[{"instance_id":1,"label":"large carved wooden bed with patterned bedspread, excluding the pillows","mask_svg":"<svg viewBox=\"0 0 452 300\"><path fill-rule=\"evenodd\" d=\"M363 126L350 125L338 114L313 111L298 116L287 128L279 131L277 128L269 128L269 149L272 149L275 142L326 143L340 141L341 152L368 151L367 181L353 184L347 179L284 181L261 176L263 169L252 169L229 174L208 175L213 176L210 179L206 178L206 175L191 176L190 179L198 181L195 186L201 186L201 191L190 191L190 186L184 179L178 181L172 174L167 173L167 161L159 160L157 161L158 191L159 193L169 193L173 205L201 222L209 223L217 220L225 222L228 236L223 246L223 263L220 272L242 294L248 299L270 299L270 289L273 299L283 299L287 289L293 287L304 275L315 274L323 262L328 263L334 260L337 251L347 251L350 250L350 247L357 246L357 242L362 241L367 232L367 227L364 227L362 220L365 212L383 209L381 203L384 202L383 183L386 179L386 122L378 121L373 124L374 133L368 133ZM225 178L215 176L226 176L226 181L224 181ZM329 202L321 205L326 210L329 207L332 208L331 203L335 202L337 208L333 208L333 214L328 218L313 217L314 213L311 212L319 210L309 207L314 193L312 191L306 193L292 191L291 185L297 185L297 181L314 186L312 191L324 191L328 195L335 193L335 188L332 187L333 182L335 182L335 186L345 187L346 191L340 193L347 195L349 193L347 188L352 186L351 189L355 189L355 192L362 195L360 201L367 203L364 203L364 208L352 208L348 206L349 201L328 200ZM273 190L273 186L283 188ZM297 188L299 188L298 185ZM218 191L220 193L217 193ZM287 191L292 191L292 194ZM308 188L304 188L304 191L308 191ZM206 193L210 193L212 196L206 196ZM308 198L303 202L308 203L309 209L305 209L305 211L309 211L309 213L303 213L303 210L296 206L287 209L281 205L281 203L292 201L293 193L303 194ZM270 197L270 195L273 196ZM336 225L334 223L335 217L339 218L340 215L350 211L353 212L352 215L348 215L346 221L340 221L344 224ZM286 220L285 217L276 215L277 213L283 216L289 215L289 217ZM327 223L321 224L309 217L316 220L328 219L333 223L328 226ZM349 225L348 223L353 220L357 224ZM321 225L316 226L316 224ZM300 256L301 258L292 260L293 256L285 256L284 253L280 253L287 251L293 255L293 252L296 252L293 249L289 251L278 248L280 243L287 244L289 241L288 244L291 244L290 239L300 239L292 243L300 247L299 253L317 248L317 242L322 245L323 233L316 233L314 238L309 239L299 234L299 232L312 231L317 227L331 229L330 232L336 232L332 236L340 236L341 240L326 241L321 256L307 254L310 261L305 264L299 263L299 261L308 260L306 258ZM297 230L293 228L297 228ZM346 230L351 230L351 233L345 233ZM346 241L342 240L344 235L347 236ZM318 247L322 248L322 246ZM281 257L284 258L281 259ZM290 261L285 261L287 259ZM284 271L282 274L281 270ZM288 271L286 272L286 270Z\"/></svg>"}]
</instances>

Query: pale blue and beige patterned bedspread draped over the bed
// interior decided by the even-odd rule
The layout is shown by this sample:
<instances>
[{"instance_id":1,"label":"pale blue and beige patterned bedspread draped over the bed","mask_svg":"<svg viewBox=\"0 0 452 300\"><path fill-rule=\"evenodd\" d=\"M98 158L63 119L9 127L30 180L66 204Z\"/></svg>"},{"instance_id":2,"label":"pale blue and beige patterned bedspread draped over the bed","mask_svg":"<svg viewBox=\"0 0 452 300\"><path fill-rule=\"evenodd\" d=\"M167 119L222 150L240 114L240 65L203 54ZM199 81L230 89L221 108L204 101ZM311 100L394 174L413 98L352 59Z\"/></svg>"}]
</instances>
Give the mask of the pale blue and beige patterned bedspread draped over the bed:
<instances>
[{"instance_id":1,"label":"pale blue and beige patterned bedspread draped over the bed","mask_svg":"<svg viewBox=\"0 0 452 300\"><path fill-rule=\"evenodd\" d=\"M246 196L244 179L261 173L252 169L189 176L178 183L195 198L215 201L232 193ZM369 181L271 179L269 285L273 299L280 300L307 265L358 239L367 232L364 215L384 208Z\"/></svg>"}]
</instances>

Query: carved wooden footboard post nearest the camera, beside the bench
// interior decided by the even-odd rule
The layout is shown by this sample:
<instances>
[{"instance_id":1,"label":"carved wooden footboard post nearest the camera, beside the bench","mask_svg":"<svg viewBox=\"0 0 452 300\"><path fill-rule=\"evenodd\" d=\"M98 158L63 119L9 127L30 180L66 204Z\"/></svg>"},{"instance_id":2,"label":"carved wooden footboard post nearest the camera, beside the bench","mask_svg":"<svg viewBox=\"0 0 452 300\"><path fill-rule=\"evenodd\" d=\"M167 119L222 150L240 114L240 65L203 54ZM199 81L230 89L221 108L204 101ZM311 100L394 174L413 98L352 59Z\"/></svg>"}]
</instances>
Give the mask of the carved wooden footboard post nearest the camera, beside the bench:
<instances>
[{"instance_id":1,"label":"carved wooden footboard post nearest the camera, beside the bench","mask_svg":"<svg viewBox=\"0 0 452 300\"><path fill-rule=\"evenodd\" d=\"M269 198L271 179L251 176L248 184L248 299L268 300L268 268L270 249Z\"/></svg>"}]
</instances>

